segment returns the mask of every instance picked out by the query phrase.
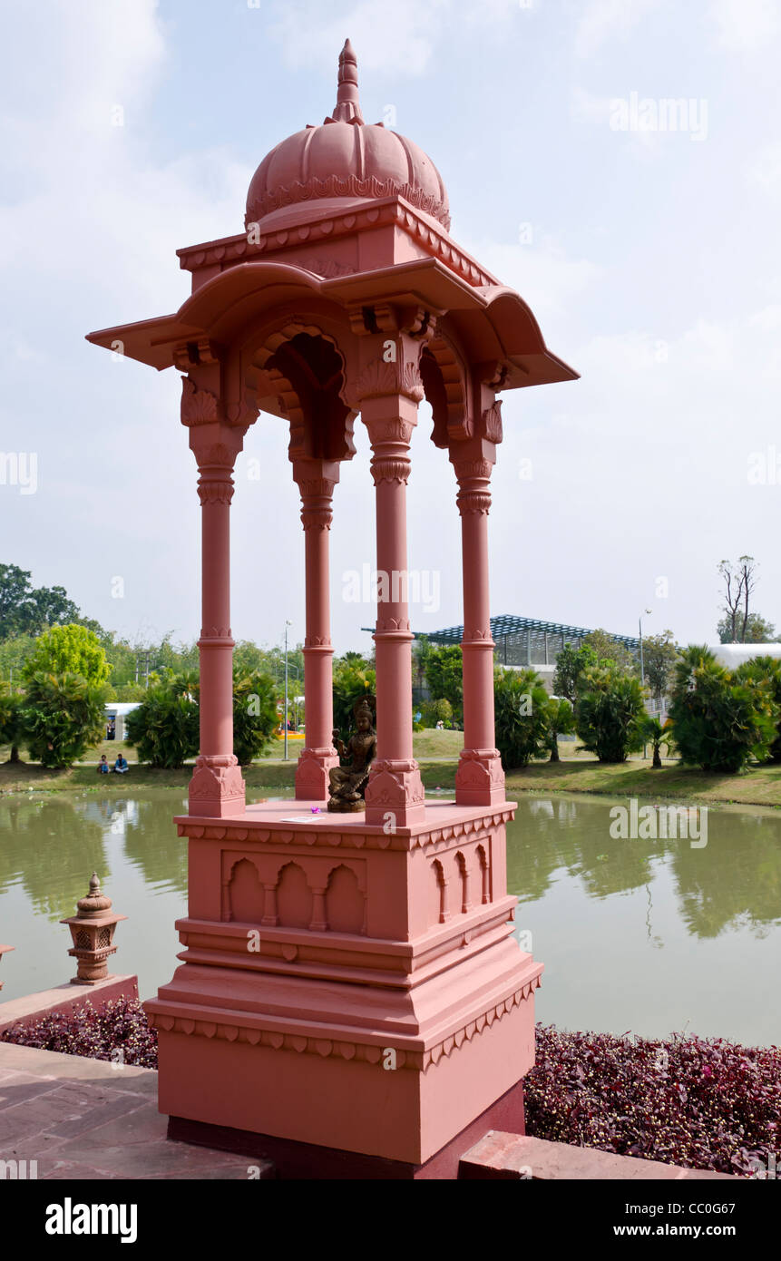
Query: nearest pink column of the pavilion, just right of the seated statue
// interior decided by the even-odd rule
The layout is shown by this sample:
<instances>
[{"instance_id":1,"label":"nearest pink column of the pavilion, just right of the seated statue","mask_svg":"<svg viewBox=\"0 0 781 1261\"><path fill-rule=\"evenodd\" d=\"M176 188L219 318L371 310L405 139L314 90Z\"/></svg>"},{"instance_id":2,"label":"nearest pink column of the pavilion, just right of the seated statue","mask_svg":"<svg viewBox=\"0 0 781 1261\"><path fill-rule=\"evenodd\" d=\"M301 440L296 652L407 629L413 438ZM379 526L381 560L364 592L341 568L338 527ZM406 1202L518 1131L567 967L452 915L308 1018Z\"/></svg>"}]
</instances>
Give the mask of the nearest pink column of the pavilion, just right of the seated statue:
<instances>
[{"instance_id":1,"label":"nearest pink column of the pavilion, just right of the seated statue","mask_svg":"<svg viewBox=\"0 0 781 1261\"><path fill-rule=\"evenodd\" d=\"M406 555L409 443L418 402L405 395L362 400L372 446L377 528L377 758L366 789L366 822L387 831L424 818L413 757L413 657Z\"/></svg>"}]
</instances>

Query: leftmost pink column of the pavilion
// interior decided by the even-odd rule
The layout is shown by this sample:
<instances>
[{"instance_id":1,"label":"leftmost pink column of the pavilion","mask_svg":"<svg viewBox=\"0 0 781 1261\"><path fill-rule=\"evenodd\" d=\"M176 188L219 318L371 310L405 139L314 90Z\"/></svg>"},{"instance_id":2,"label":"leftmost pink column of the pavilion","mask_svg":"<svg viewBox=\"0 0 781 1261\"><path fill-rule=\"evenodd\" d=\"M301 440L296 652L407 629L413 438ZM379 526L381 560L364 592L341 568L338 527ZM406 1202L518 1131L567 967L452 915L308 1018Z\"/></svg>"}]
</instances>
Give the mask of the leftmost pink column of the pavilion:
<instances>
[{"instance_id":1,"label":"leftmost pink column of the pavilion","mask_svg":"<svg viewBox=\"0 0 781 1261\"><path fill-rule=\"evenodd\" d=\"M187 378L185 378L187 381ZM242 815L245 784L233 755L233 638L231 634L231 499L233 463L245 429L199 419L193 400L217 402L206 390L184 391L182 419L191 427L201 498L201 755L189 783L189 813ZM204 402L201 401L201 411ZM192 416L196 415L196 419Z\"/></svg>"}]
</instances>

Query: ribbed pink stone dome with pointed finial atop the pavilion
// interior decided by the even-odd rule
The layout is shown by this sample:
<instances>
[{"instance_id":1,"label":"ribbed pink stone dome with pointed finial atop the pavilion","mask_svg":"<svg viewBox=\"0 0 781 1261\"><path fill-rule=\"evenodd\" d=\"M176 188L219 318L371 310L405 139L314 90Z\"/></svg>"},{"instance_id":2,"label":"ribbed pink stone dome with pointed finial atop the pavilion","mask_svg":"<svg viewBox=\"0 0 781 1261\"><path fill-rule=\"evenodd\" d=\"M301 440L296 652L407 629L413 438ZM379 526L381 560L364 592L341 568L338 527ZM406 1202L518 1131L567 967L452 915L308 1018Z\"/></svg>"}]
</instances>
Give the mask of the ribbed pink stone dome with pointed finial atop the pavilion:
<instances>
[{"instance_id":1,"label":"ribbed pink stone dome with pointed finial atop the pavilion","mask_svg":"<svg viewBox=\"0 0 781 1261\"><path fill-rule=\"evenodd\" d=\"M333 113L322 126L297 131L266 154L250 184L246 224L317 198L382 197L404 197L445 230L450 226L447 189L432 159L384 124L363 121L356 55L347 40Z\"/></svg>"}]
</instances>

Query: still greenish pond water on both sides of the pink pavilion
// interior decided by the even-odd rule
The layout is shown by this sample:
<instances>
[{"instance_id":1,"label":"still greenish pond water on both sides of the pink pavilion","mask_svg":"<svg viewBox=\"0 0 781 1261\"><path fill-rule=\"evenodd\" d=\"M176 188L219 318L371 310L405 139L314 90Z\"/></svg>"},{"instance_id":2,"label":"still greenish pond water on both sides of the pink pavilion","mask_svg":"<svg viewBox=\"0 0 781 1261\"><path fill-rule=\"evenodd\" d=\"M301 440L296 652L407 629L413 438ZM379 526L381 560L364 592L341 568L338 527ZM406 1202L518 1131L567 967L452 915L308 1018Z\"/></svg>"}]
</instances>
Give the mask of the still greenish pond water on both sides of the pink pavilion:
<instances>
[{"instance_id":1,"label":"still greenish pond water on both sides of the pink pavilion","mask_svg":"<svg viewBox=\"0 0 781 1261\"><path fill-rule=\"evenodd\" d=\"M612 802L529 796L507 832L517 933L544 961L537 1016L567 1029L686 1030L781 1043L781 813L719 808L707 845L613 840ZM1 999L68 980L68 929L93 870L115 910L114 970L143 997L170 980L185 913L178 789L0 799Z\"/></svg>"}]
</instances>

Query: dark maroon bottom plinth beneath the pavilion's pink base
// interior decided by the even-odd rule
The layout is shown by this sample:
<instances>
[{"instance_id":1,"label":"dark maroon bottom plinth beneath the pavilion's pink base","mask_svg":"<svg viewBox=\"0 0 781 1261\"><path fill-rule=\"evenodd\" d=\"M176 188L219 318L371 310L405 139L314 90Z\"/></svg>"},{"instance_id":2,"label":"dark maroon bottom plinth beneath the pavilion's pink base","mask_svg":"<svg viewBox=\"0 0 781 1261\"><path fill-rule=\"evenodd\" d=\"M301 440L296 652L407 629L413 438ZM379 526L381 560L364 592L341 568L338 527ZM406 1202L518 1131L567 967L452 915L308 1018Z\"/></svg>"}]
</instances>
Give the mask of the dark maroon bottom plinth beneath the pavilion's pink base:
<instances>
[{"instance_id":1,"label":"dark maroon bottom plinth beneath the pavilion's pink base","mask_svg":"<svg viewBox=\"0 0 781 1261\"><path fill-rule=\"evenodd\" d=\"M187 1117L168 1119L168 1137L196 1146L214 1148L247 1156L250 1161L271 1160L281 1179L351 1180L351 1182L449 1182L458 1177L458 1164L466 1151L488 1130L525 1135L524 1082L516 1082L501 1098L491 1103L466 1129L450 1139L423 1164L389 1160L385 1156L344 1151L343 1148L322 1148L314 1142L297 1142L251 1130L233 1130L226 1125L208 1125Z\"/></svg>"}]
</instances>

